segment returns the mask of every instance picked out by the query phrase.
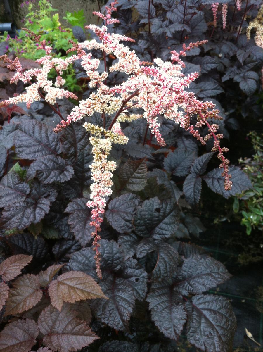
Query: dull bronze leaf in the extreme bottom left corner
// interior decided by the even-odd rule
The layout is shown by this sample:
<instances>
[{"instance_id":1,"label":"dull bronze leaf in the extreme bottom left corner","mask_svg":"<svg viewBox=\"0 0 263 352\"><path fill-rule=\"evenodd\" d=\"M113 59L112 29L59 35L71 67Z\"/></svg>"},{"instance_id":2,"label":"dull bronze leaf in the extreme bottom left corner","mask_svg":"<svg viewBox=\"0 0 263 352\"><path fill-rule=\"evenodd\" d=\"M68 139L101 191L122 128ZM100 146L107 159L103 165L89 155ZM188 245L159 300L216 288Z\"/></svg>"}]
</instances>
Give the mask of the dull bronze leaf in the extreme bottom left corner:
<instances>
[{"instance_id":1,"label":"dull bronze leaf in the extreme bottom left corner","mask_svg":"<svg viewBox=\"0 0 263 352\"><path fill-rule=\"evenodd\" d=\"M19 319L7 324L0 333L1 352L28 352L37 342L39 330L31 319Z\"/></svg>"}]
</instances>

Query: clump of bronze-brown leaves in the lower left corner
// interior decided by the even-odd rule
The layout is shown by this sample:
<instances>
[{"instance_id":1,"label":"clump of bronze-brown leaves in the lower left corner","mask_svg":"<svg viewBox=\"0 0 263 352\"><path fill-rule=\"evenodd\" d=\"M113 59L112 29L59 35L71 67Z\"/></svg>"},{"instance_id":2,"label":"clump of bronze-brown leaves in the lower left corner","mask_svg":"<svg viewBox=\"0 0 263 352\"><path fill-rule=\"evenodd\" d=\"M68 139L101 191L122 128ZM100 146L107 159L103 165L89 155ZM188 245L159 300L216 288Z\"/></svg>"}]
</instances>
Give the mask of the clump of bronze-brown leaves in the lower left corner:
<instances>
[{"instance_id":1,"label":"clump of bronze-brown leaves in the lower left corner","mask_svg":"<svg viewBox=\"0 0 263 352\"><path fill-rule=\"evenodd\" d=\"M20 318L0 333L0 349L28 352L38 342L46 346L38 351L70 352L98 339L89 327L91 313L84 300L107 299L100 286L81 271L57 275L63 264L15 279L31 260L32 256L17 254L0 264L4 320L11 315Z\"/></svg>"}]
</instances>

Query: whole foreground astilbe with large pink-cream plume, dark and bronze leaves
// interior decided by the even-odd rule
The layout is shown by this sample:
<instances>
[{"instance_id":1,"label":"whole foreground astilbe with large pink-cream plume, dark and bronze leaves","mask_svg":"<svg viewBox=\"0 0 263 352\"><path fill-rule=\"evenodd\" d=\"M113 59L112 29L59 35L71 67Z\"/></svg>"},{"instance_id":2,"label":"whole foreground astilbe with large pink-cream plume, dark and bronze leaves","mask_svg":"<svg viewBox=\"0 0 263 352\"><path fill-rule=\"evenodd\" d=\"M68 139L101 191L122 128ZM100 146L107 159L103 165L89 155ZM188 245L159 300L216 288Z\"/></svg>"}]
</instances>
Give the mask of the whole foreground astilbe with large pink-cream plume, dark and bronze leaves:
<instances>
[{"instance_id":1,"label":"whole foreground astilbe with large pink-cream plume, dark and bronze leaves","mask_svg":"<svg viewBox=\"0 0 263 352\"><path fill-rule=\"evenodd\" d=\"M70 352L100 337L86 351L174 351L184 333L203 351L227 352L235 316L229 300L206 291L230 274L178 241L204 230L191 213L202 179L226 198L251 187L219 143L219 110L189 89L198 74L182 72L182 57L207 42L182 44L170 61L143 60L120 43L133 39L108 31L118 24L115 5L96 13L102 27L88 26L97 39L69 39L66 58L28 29L45 51L37 66L1 57L4 77L14 72L0 93L16 94L0 103L8 118L0 130L0 346L29 352L37 341L39 352ZM76 105L64 86L70 64L89 82ZM206 142L209 153L198 150ZM216 156L220 168L206 171ZM27 274L5 277L28 256Z\"/></svg>"}]
</instances>

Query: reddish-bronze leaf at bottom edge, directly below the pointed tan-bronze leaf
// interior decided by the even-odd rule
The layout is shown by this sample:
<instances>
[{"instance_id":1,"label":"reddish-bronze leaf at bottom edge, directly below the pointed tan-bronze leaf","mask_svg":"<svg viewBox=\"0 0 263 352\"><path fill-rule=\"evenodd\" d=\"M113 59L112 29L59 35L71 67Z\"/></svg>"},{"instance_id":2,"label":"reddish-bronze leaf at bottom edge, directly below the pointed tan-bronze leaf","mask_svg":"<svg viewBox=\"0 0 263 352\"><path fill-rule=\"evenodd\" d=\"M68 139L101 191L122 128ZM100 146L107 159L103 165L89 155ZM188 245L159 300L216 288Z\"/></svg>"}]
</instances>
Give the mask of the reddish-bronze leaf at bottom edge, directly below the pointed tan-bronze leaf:
<instances>
[{"instance_id":1,"label":"reddish-bronze leaf at bottom edge, directly below the pointed tan-bronze leaf","mask_svg":"<svg viewBox=\"0 0 263 352\"><path fill-rule=\"evenodd\" d=\"M54 351L77 351L98 339L85 322L76 318L76 312L67 308L59 312L48 306L39 316L38 327L44 345Z\"/></svg>"}]
</instances>

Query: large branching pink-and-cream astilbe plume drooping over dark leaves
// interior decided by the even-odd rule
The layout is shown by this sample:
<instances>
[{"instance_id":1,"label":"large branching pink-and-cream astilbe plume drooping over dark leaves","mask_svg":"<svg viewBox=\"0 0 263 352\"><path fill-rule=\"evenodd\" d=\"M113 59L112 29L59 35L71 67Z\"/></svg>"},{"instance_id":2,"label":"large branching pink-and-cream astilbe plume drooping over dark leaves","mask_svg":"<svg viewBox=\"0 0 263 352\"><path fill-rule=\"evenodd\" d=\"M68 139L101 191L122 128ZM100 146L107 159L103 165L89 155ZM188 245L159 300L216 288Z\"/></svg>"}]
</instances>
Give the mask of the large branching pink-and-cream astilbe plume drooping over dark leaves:
<instances>
[{"instance_id":1,"label":"large branching pink-and-cream astilbe plume drooping over dark leaves","mask_svg":"<svg viewBox=\"0 0 263 352\"><path fill-rule=\"evenodd\" d=\"M97 40L86 40L83 43L75 43L69 40L72 48L68 52L76 52L76 54L66 59L52 57L52 48L46 46L44 41L40 42L40 39L36 36L35 39L39 42L39 48L46 51L46 55L37 60L42 68L22 72L18 59L11 61L10 68L17 70L13 81L21 79L23 82L29 83L30 86L26 88L26 94L20 94L2 102L2 105L6 105L7 103L26 101L27 106L30 106L33 101L40 100L42 97L52 106L56 103L56 98L62 98L62 96L76 99L72 93L60 88L64 84L60 75L68 67L69 63L80 59L81 65L90 79L89 86L94 88L95 91L87 99L79 101L68 117L54 128L54 132L58 133L71 124L72 121L75 122L83 117L91 116L94 112L100 113L103 118L106 115L114 115L108 130L90 123L84 123L83 125L91 135L90 143L92 144L92 155L94 156L93 163L90 166L94 183L90 187L91 195L87 205L92 208L90 225L95 228L92 236L94 237L93 245L96 251L95 261L98 277L101 277L100 252L98 250L100 246L100 224L103 221L101 215L103 215L106 206L105 198L111 195L111 186L113 185L112 172L116 168L116 163L108 161L107 157L109 156L112 143L124 144L128 142L128 137L124 136L121 131L120 122L145 118L150 131L160 146L166 145L159 130L158 117L160 115L175 121L182 128L185 128L201 144L205 144L207 140L212 138L214 140L212 150L218 152L218 158L221 161L219 167L223 169L222 176L225 178L225 190L230 190L232 185L228 168L229 160L224 156L224 152L227 152L228 149L220 147L219 142L223 135L217 133L219 128L217 124L209 122L211 119L221 119L219 111L212 102L199 101L193 93L185 90L198 77L198 73L194 72L184 76L181 72L185 64L180 57L186 56L186 51L204 45L207 41L203 40L188 45L183 44L179 53L171 51L171 62L164 62L160 58L154 59L154 63L141 62L134 51L120 43L121 41L133 41L133 39L120 34L108 33L107 31L107 24L117 22L111 19L111 13L116 11L116 4L117 1L114 1L110 7L106 7L107 14L105 15L100 12L95 13L105 21L105 25L102 27L96 25L86 26L86 28L97 35ZM102 73L97 71L100 60L92 58L92 53L90 52L92 49L101 50L103 53L105 71ZM128 75L126 81L111 88L105 84L108 78L105 55L108 54L113 54L118 59L118 62L111 66L109 71L123 71ZM8 58L4 57L4 60L8 61ZM47 74L52 68L57 71L54 86L52 81L47 80ZM34 83L31 82L33 76L36 81ZM39 93L40 89L44 94ZM140 108L142 113L134 113L132 111L133 106ZM56 111L54 107L53 109ZM125 114L127 109L130 109L129 114ZM59 114L58 111L56 112ZM195 125L190 123L193 115L197 115L197 123ZM201 137L198 128L205 125L209 128L209 133L207 136Z\"/></svg>"}]
</instances>

